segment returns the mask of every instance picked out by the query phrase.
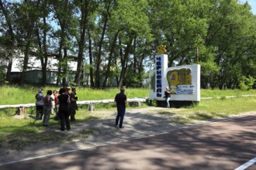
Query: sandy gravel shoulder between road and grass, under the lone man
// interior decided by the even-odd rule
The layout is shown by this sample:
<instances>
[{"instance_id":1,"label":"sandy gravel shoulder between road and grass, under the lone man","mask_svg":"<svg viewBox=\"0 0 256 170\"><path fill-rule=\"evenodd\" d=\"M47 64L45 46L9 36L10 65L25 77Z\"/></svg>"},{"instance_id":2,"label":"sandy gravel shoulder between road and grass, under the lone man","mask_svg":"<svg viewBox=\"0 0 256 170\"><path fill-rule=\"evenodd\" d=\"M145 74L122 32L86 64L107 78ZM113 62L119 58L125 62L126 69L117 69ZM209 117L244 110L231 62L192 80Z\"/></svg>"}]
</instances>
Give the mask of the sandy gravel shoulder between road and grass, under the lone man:
<instances>
[{"instance_id":1,"label":"sandy gravel shoulder between road and grass, under the lone man","mask_svg":"<svg viewBox=\"0 0 256 170\"><path fill-rule=\"evenodd\" d=\"M175 121L172 121L172 117L175 114L164 114L166 110L171 110L171 112L173 111L175 113L178 109L162 107L128 108L123 122L124 129L114 127L116 111L95 111L93 114L104 115L103 119L71 124L71 131L58 131L57 128L59 127L49 127L45 130L49 132L49 135L57 133L72 137L75 134L91 131L92 133L90 135L80 135L79 138L74 138L64 143L42 142L19 150L5 148L3 146L0 148L0 165L85 148L96 148L101 145L112 145L121 141L144 138L149 135L175 131L179 128L188 128L192 125L206 124L209 122L198 121L191 124L177 124ZM240 116L249 114L256 114L256 111L243 113Z\"/></svg>"}]
</instances>

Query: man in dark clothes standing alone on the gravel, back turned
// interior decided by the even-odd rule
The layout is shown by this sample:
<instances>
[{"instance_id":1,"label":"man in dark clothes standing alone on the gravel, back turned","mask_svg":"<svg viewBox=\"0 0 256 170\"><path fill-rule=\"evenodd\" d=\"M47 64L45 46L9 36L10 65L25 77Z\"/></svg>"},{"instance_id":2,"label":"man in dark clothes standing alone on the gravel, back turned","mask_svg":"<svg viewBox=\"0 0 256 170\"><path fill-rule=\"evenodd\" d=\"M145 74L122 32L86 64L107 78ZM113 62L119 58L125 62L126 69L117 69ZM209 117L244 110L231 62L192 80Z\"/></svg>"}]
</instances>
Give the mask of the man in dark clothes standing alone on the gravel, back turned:
<instances>
[{"instance_id":1,"label":"man in dark clothes standing alone on the gravel, back turned","mask_svg":"<svg viewBox=\"0 0 256 170\"><path fill-rule=\"evenodd\" d=\"M117 115L116 115L116 128L123 128L123 117L126 113L126 103L127 97L124 93L124 88L120 89L120 93L116 94L115 101L116 101L116 108L117 108ZM119 126L118 126L119 123Z\"/></svg>"}]
</instances>

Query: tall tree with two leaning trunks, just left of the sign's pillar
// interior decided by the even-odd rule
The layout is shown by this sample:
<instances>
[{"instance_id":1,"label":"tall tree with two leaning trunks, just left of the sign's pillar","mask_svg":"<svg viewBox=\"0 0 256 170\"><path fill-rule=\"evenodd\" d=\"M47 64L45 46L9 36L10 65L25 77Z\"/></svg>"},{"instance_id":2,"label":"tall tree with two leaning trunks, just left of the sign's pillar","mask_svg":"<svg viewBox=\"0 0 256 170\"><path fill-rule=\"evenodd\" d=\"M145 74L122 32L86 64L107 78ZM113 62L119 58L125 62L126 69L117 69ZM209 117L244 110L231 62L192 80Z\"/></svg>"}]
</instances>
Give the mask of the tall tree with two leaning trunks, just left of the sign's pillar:
<instances>
[{"instance_id":1,"label":"tall tree with two leaning trunks, just left of the sign's pillar","mask_svg":"<svg viewBox=\"0 0 256 170\"><path fill-rule=\"evenodd\" d=\"M147 1L119 0L113 5L108 29L109 59L103 87L106 86L111 66L120 67L117 83L119 87L123 86L127 66L133 65L130 63L130 57L134 56L134 39L143 39L143 42L150 41L149 20L146 13L148 10ZM117 53L118 50L119 53ZM112 55L114 55L113 61ZM121 65L117 66L117 63Z\"/></svg>"}]
</instances>

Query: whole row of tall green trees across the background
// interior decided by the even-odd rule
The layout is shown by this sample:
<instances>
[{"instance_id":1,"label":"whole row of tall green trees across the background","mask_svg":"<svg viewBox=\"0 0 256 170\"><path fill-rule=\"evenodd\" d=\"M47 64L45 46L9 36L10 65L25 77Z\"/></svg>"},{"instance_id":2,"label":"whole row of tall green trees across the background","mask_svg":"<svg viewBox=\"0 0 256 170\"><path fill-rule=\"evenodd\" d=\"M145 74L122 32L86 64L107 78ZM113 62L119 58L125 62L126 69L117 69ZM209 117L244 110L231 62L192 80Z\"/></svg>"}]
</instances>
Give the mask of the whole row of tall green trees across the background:
<instances>
[{"instance_id":1,"label":"whole row of tall green trees across the background","mask_svg":"<svg viewBox=\"0 0 256 170\"><path fill-rule=\"evenodd\" d=\"M73 82L105 88L140 87L153 69L157 46L167 46L168 66L201 65L201 87L253 87L256 16L238 0L0 0L0 82L12 61L40 59L46 84L49 54L58 56L57 84L66 83L67 62L77 58ZM35 50L36 49L36 50ZM71 57L73 56L73 57Z\"/></svg>"}]
</instances>

